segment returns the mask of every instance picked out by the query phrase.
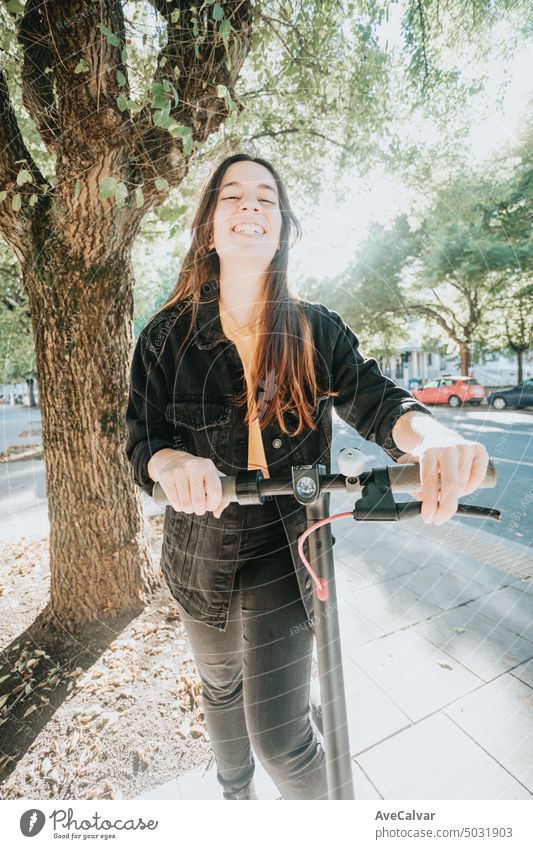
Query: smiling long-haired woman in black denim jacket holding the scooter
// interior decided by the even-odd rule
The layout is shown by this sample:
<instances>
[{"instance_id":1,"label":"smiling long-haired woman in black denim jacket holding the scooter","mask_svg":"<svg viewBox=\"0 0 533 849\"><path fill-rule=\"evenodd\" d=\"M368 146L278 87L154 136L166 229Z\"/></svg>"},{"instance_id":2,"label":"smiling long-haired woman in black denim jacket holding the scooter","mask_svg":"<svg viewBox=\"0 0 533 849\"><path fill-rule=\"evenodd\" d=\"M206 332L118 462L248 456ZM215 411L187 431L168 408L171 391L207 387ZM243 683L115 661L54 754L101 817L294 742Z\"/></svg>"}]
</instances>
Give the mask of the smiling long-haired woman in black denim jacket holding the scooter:
<instances>
[{"instance_id":1,"label":"smiling long-haired woman in black denim jacket holding the scooter","mask_svg":"<svg viewBox=\"0 0 533 849\"><path fill-rule=\"evenodd\" d=\"M191 641L227 799L254 798L252 750L284 798L327 799L328 789L310 722L314 608L297 551L305 509L291 496L225 503L220 475L285 476L317 463L328 473L332 399L394 459L420 451L424 515L451 515L454 475L475 488L485 474L475 444L456 434L450 443L423 404L362 356L338 313L289 292L294 232L266 160L221 162L176 288L132 364L126 451L136 482L151 494L158 481L171 505L161 568Z\"/></svg>"}]
</instances>

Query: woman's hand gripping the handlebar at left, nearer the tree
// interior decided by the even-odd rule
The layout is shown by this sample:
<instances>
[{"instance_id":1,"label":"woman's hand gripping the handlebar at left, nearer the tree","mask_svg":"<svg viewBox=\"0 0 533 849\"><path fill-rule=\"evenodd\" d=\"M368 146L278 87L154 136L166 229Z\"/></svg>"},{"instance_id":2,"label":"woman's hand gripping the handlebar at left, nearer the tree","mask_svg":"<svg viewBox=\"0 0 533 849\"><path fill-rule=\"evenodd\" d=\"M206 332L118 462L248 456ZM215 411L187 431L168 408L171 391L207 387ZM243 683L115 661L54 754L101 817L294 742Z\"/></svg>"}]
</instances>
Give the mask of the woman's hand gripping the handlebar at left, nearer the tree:
<instances>
[{"instance_id":1,"label":"woman's hand gripping the handlebar at left, nearer the tree","mask_svg":"<svg viewBox=\"0 0 533 849\"><path fill-rule=\"evenodd\" d=\"M177 512L203 516L213 511L216 519L230 504L222 498L220 472L212 460L176 452L158 470L158 480L171 506Z\"/></svg>"}]
</instances>

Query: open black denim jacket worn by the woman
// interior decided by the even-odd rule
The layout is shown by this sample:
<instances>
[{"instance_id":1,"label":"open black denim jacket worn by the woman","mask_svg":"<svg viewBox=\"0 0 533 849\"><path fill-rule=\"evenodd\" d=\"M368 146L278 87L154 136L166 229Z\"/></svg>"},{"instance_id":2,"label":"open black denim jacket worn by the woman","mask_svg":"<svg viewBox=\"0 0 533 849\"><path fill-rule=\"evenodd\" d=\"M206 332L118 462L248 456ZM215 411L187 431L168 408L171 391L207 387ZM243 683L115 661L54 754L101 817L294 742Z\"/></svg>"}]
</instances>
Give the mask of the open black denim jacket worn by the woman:
<instances>
[{"instance_id":1,"label":"open black denim jacket worn by the woman","mask_svg":"<svg viewBox=\"0 0 533 849\"><path fill-rule=\"evenodd\" d=\"M149 495L154 483L147 464L162 448L209 457L226 475L248 468L245 411L234 404L245 387L243 365L235 344L222 330L216 282L204 290L207 295L202 297L195 327L179 357L191 321L188 300L152 318L135 346L125 450L135 483ZM376 442L393 460L399 459L404 452L391 433L397 419L409 410L432 413L385 377L375 359L360 354L357 337L337 312L320 303L303 299L301 303L312 328L319 385L340 395L316 399L315 430L287 436L275 419L263 429L270 476L290 476L291 466L314 463L323 463L326 472L331 472L332 404L364 439ZM297 415L285 415L292 432ZM294 496L276 497L276 501L312 626L312 586L297 551L298 536L306 529L305 508ZM212 512L197 516L177 513L170 506L165 512L161 568L170 592L191 616L222 631L243 521L244 510L236 503L226 507L219 519Z\"/></svg>"}]
</instances>

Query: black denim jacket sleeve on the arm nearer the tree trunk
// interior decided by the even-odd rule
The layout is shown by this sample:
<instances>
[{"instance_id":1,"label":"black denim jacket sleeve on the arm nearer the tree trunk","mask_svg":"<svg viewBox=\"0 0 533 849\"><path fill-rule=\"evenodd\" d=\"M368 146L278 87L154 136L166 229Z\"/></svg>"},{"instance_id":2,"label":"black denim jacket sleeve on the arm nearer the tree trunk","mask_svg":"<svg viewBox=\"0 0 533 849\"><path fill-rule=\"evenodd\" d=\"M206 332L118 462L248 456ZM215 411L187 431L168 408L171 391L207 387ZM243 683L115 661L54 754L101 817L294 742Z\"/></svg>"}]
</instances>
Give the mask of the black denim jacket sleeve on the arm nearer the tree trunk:
<instances>
[{"instance_id":1,"label":"black denim jacket sleeve on the arm nearer the tree trunk","mask_svg":"<svg viewBox=\"0 0 533 849\"><path fill-rule=\"evenodd\" d=\"M147 471L152 454L162 448L183 447L173 426L165 419L166 404L165 376L145 328L137 340L131 363L125 451L135 483L148 495L152 495L154 487Z\"/></svg>"}]
</instances>

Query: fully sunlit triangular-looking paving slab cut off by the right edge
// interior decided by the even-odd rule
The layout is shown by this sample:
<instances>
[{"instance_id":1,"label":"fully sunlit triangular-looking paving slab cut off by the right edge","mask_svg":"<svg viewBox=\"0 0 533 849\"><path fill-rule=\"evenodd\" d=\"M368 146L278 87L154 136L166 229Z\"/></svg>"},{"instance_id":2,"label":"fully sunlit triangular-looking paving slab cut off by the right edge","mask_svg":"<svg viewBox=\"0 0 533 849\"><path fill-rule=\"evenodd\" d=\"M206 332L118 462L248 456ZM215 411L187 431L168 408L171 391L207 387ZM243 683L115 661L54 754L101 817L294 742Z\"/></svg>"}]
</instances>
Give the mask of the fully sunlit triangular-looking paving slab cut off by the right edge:
<instances>
[{"instance_id":1,"label":"fully sunlit triangular-looking paving slab cut off by the right edge","mask_svg":"<svg viewBox=\"0 0 533 849\"><path fill-rule=\"evenodd\" d=\"M445 709L473 740L533 791L533 690L506 673Z\"/></svg>"}]
</instances>

